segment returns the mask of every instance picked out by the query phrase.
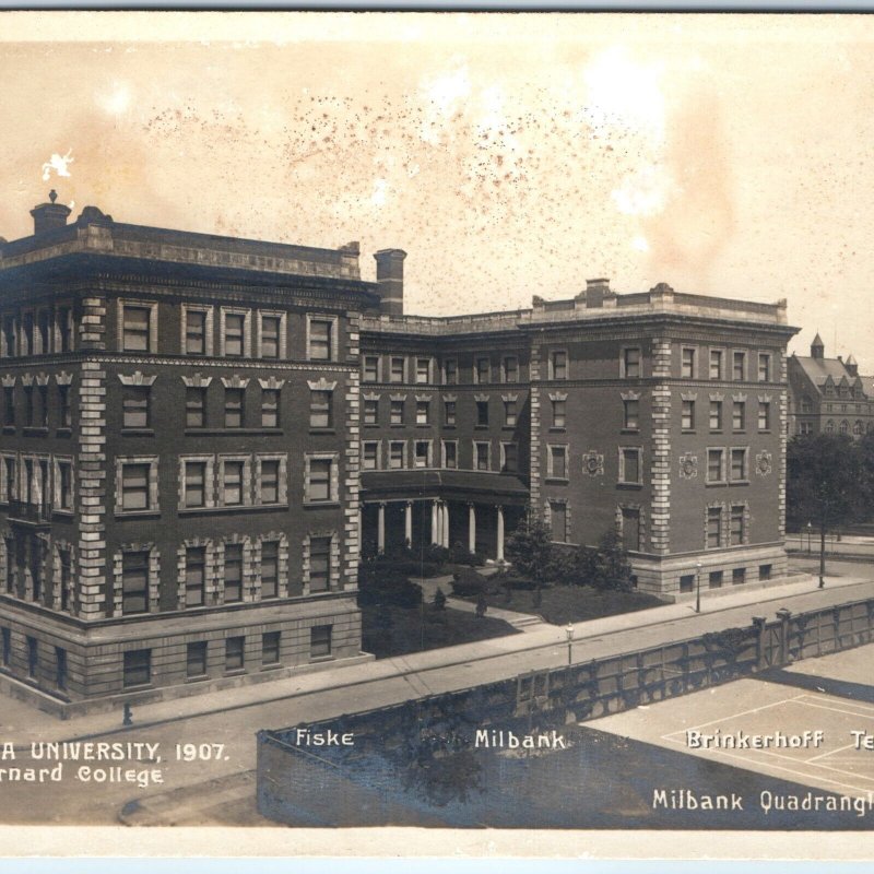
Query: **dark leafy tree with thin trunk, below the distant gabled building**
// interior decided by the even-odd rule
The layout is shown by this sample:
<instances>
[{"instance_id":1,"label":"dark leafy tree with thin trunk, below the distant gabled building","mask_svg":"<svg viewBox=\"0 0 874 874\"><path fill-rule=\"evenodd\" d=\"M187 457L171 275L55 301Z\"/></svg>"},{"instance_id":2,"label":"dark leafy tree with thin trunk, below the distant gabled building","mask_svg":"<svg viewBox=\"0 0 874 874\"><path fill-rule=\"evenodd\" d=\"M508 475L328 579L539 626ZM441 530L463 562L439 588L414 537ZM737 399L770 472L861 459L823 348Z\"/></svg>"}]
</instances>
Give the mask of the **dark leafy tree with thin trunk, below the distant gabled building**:
<instances>
[{"instance_id":1,"label":"dark leafy tree with thin trunk, below the distant gabled building","mask_svg":"<svg viewBox=\"0 0 874 874\"><path fill-rule=\"evenodd\" d=\"M826 532L860 513L859 448L843 434L793 437L787 447L787 518L819 531L819 586L825 584Z\"/></svg>"}]
</instances>

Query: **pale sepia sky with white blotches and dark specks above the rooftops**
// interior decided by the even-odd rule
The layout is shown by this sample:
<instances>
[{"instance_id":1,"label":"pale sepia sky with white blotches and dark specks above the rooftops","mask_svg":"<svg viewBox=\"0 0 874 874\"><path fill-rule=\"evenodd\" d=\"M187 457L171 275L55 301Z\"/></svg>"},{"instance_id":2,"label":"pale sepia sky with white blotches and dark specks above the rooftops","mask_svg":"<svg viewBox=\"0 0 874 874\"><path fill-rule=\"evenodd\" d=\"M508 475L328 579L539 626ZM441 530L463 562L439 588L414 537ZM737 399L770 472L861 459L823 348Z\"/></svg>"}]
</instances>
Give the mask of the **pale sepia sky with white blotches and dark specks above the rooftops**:
<instances>
[{"instance_id":1,"label":"pale sepia sky with white blotches and dark specks above the rooftops","mask_svg":"<svg viewBox=\"0 0 874 874\"><path fill-rule=\"evenodd\" d=\"M874 19L0 13L0 236L117 221L373 252L405 309L789 302L874 374Z\"/></svg>"}]
</instances>

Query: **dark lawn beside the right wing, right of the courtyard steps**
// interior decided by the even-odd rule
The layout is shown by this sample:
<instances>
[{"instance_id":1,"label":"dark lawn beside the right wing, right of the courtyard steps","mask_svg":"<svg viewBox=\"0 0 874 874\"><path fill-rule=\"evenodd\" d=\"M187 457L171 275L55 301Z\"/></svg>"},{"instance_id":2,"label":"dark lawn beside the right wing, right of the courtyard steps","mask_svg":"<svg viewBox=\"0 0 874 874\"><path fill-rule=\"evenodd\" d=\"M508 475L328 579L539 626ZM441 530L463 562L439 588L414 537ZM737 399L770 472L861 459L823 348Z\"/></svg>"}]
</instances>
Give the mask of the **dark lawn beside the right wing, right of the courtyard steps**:
<instances>
[{"instance_id":1,"label":"dark lawn beside the right wing, right of the courtyard steps","mask_svg":"<svg viewBox=\"0 0 874 874\"><path fill-rule=\"evenodd\" d=\"M507 600L508 592L509 600ZM465 600L476 602L475 598ZM634 613L638 610L664 606L663 601L651 594L602 591L590 586L553 586L543 589L540 604L533 589L505 589L496 594L487 594L485 600L491 607L512 610L517 613L534 613L553 625L566 625L569 622L599 619L617 613Z\"/></svg>"}]
</instances>

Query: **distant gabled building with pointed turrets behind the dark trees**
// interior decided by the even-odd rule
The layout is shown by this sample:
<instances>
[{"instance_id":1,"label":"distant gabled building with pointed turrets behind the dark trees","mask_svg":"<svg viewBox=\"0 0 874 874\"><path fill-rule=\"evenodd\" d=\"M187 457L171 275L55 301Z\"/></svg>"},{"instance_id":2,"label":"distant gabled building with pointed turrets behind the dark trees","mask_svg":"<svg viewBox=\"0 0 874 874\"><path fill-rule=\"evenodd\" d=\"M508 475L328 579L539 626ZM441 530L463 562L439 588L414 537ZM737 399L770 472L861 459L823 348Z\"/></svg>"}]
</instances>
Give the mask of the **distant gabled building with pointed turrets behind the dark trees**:
<instances>
[{"instance_id":1,"label":"distant gabled building with pointed turrets behind the dark trees","mask_svg":"<svg viewBox=\"0 0 874 874\"><path fill-rule=\"evenodd\" d=\"M874 430L874 377L860 376L850 355L827 358L817 333L810 357L789 358L789 433L845 434L854 440Z\"/></svg>"}]
</instances>

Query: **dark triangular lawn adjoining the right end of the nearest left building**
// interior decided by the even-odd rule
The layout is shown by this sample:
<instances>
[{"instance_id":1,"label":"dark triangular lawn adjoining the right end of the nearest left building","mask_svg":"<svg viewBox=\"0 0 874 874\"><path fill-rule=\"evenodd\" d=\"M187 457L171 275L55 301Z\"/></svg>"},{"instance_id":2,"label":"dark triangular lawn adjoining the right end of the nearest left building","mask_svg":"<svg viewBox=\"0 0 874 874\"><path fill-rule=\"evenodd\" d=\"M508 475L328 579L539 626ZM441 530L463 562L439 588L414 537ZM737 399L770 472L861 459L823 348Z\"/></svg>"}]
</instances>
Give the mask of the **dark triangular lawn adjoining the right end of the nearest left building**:
<instances>
[{"instance_id":1,"label":"dark triangular lawn adjoining the right end of the nearest left building","mask_svg":"<svg viewBox=\"0 0 874 874\"><path fill-rule=\"evenodd\" d=\"M437 610L433 604L364 606L362 623L362 649L377 659L519 634L501 619L477 618L460 610Z\"/></svg>"}]
</instances>

